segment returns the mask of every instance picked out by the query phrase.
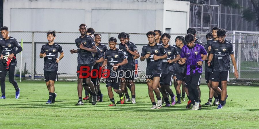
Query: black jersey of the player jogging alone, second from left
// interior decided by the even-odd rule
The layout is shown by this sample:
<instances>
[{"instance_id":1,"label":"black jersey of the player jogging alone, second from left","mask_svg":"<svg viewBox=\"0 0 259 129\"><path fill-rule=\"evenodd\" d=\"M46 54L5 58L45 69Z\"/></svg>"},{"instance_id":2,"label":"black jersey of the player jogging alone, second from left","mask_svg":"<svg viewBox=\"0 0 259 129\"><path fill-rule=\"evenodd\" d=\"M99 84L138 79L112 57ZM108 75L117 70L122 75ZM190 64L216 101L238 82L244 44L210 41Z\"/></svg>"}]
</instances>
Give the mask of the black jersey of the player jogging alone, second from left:
<instances>
[{"instance_id":1,"label":"black jersey of the player jogging alone, second from left","mask_svg":"<svg viewBox=\"0 0 259 129\"><path fill-rule=\"evenodd\" d=\"M46 52L46 56L44 57L44 71L55 71L58 70L58 63L56 62L56 58L58 58L58 52L62 53L62 47L54 43L53 45L44 44L41 47L41 54Z\"/></svg>"}]
</instances>

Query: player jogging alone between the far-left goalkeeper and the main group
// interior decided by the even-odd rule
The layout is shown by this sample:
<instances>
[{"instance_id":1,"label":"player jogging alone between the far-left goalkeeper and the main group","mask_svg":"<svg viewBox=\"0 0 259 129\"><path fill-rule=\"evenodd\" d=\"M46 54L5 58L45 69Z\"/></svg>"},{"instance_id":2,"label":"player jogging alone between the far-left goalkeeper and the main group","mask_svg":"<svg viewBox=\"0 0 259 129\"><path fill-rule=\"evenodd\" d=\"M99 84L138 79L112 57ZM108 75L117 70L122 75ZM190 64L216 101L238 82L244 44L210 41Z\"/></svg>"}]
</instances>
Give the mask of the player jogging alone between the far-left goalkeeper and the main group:
<instances>
[{"instance_id":1,"label":"player jogging alone between the far-left goalkeeper and the main group","mask_svg":"<svg viewBox=\"0 0 259 129\"><path fill-rule=\"evenodd\" d=\"M44 58L44 77L47 85L47 89L49 91L49 99L46 104L55 103L55 98L57 94L55 93L55 81L58 76L58 62L64 57L64 52L62 47L54 42L56 38L55 31L47 32L47 40L49 43L44 44L41 47L40 58ZM58 58L58 52L60 56Z\"/></svg>"}]
</instances>

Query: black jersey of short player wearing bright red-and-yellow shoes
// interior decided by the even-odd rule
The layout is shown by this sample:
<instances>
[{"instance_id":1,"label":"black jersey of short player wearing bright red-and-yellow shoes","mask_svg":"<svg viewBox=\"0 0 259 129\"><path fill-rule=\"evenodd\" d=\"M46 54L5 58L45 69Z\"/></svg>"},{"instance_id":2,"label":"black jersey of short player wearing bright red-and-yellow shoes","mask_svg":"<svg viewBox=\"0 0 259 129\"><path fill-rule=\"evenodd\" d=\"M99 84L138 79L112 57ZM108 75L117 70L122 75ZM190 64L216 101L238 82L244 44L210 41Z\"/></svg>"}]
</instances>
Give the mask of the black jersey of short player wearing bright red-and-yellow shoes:
<instances>
[{"instance_id":1,"label":"black jersey of short player wearing bright red-and-yellow shoes","mask_svg":"<svg viewBox=\"0 0 259 129\"><path fill-rule=\"evenodd\" d=\"M107 59L107 69L111 70L113 65L121 63L124 59L126 59L126 56L122 50L116 48L115 50L107 50L105 52L104 59ZM121 70L121 67L119 67L117 70ZM112 71L110 75L112 77L116 76L116 74Z\"/></svg>"}]
</instances>

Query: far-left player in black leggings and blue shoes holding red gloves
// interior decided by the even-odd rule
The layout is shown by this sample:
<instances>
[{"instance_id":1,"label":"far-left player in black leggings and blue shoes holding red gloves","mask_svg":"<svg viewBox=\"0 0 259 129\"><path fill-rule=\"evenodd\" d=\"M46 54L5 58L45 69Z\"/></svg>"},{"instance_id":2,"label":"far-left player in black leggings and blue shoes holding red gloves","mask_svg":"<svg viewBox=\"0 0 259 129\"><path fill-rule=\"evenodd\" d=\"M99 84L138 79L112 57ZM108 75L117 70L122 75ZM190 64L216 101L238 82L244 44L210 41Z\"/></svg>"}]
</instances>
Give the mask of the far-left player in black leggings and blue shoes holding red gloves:
<instances>
[{"instance_id":1,"label":"far-left player in black leggings and blue shoes holding red gloves","mask_svg":"<svg viewBox=\"0 0 259 129\"><path fill-rule=\"evenodd\" d=\"M9 82L12 83L15 89L15 98L18 99L20 97L20 88L18 87L17 82L14 80L14 73L16 68L16 54L22 51L21 45L18 43L16 38L9 36L8 27L1 27L1 35L3 38L0 40L0 59L2 60L4 65L0 67L0 85L2 96L0 99L5 99L5 76L7 72L9 73L8 78ZM16 47L18 48L16 50Z\"/></svg>"}]
</instances>

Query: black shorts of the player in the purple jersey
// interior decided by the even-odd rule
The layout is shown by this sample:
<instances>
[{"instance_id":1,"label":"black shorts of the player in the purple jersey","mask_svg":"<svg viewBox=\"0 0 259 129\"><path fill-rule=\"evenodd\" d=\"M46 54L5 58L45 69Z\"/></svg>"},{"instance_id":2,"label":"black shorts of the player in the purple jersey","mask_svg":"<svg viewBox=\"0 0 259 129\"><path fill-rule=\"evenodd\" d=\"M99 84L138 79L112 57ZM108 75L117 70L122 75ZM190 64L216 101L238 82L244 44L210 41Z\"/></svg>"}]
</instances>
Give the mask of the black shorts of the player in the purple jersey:
<instances>
[{"instance_id":1,"label":"black shorts of the player in the purple jersey","mask_svg":"<svg viewBox=\"0 0 259 129\"><path fill-rule=\"evenodd\" d=\"M185 84L188 86L190 85L200 85L201 80L201 73L195 73L191 75L185 76Z\"/></svg>"}]
</instances>

